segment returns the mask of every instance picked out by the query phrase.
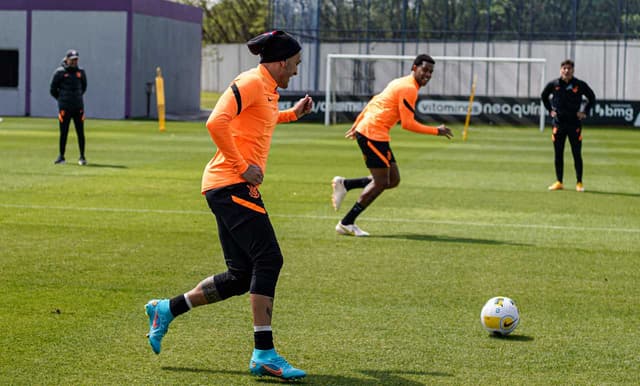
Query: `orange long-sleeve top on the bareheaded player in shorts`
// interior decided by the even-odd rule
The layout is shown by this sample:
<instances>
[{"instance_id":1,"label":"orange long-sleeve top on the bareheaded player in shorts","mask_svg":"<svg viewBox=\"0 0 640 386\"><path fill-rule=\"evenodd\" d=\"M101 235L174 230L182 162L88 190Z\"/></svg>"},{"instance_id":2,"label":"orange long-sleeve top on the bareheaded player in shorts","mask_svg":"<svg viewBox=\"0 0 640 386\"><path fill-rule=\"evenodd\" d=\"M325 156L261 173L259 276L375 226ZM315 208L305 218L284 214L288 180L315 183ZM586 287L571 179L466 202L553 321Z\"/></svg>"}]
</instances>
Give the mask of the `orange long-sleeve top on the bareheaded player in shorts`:
<instances>
[{"instance_id":1,"label":"orange long-sleeve top on the bareheaded player in shorts","mask_svg":"<svg viewBox=\"0 0 640 386\"><path fill-rule=\"evenodd\" d=\"M378 95L371 98L353 124L356 131L374 141L388 142L389 131L398 121L405 130L438 135L438 128L416 121L415 105L420 85L413 74L389 82Z\"/></svg>"}]
</instances>

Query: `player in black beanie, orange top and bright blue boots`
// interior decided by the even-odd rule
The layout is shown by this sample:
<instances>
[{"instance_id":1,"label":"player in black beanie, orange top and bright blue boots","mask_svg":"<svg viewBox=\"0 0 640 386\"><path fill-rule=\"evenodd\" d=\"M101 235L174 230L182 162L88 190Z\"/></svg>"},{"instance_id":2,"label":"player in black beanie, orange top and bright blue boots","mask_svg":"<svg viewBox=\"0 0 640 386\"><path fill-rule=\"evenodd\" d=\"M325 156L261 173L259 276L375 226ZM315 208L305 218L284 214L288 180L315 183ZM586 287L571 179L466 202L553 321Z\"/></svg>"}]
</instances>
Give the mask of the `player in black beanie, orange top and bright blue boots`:
<instances>
[{"instance_id":1,"label":"player in black beanie, orange top and bright blue boots","mask_svg":"<svg viewBox=\"0 0 640 386\"><path fill-rule=\"evenodd\" d=\"M278 110L277 88L287 88L298 72L300 44L283 31L267 32L248 42L260 64L238 75L207 120L217 151L202 176L202 194L218 224L227 271L202 280L171 299L149 301L149 344L160 353L169 323L193 307L250 293L255 348L249 362L254 375L303 378L274 349L271 316L283 257L258 187L264 178L271 137L277 123L309 113L307 95L293 108Z\"/></svg>"}]
</instances>

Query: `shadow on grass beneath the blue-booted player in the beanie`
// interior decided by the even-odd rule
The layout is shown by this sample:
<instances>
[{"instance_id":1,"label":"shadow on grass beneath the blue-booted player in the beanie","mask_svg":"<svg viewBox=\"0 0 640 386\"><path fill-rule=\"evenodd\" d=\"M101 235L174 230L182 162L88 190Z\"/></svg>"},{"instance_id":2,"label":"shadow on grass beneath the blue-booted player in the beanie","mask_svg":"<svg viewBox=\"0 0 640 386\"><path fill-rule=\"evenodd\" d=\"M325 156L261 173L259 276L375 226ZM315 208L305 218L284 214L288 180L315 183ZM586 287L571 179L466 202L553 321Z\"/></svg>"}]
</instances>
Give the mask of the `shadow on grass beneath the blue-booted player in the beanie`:
<instances>
[{"instance_id":1,"label":"shadow on grass beneath the blue-booted player in the beanie","mask_svg":"<svg viewBox=\"0 0 640 386\"><path fill-rule=\"evenodd\" d=\"M215 369L201 369L193 367L162 367L165 371L187 372L187 373L206 373L217 375L230 375L230 376L247 376L253 377L248 371L234 371L234 370L215 370ZM340 375L322 375L322 374L307 374L307 377L298 381L297 384L305 385L408 385L418 386L426 385L426 383L412 381L405 378L407 376L422 376L422 377L451 377L451 374L442 373L439 371L379 371L379 370L360 370L360 372L367 377L375 379L361 379L353 377L345 377ZM255 380L259 383L274 383L282 384L282 381L277 378L271 377L256 377Z\"/></svg>"}]
</instances>

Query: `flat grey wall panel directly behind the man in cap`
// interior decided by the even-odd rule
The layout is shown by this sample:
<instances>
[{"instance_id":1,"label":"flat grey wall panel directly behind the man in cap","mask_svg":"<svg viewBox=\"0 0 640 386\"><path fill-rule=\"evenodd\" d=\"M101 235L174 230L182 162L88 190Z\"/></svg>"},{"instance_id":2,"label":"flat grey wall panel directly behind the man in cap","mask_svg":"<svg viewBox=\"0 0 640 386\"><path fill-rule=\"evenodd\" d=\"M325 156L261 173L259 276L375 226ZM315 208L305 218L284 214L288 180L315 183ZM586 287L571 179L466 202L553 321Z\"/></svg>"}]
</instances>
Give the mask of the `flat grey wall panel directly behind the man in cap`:
<instances>
[{"instance_id":1,"label":"flat grey wall panel directly behind the man in cap","mask_svg":"<svg viewBox=\"0 0 640 386\"><path fill-rule=\"evenodd\" d=\"M87 73L85 115L123 118L126 13L33 11L32 20L31 115L57 115L57 102L49 94L49 85L67 49L73 48L78 50L79 65Z\"/></svg>"}]
</instances>

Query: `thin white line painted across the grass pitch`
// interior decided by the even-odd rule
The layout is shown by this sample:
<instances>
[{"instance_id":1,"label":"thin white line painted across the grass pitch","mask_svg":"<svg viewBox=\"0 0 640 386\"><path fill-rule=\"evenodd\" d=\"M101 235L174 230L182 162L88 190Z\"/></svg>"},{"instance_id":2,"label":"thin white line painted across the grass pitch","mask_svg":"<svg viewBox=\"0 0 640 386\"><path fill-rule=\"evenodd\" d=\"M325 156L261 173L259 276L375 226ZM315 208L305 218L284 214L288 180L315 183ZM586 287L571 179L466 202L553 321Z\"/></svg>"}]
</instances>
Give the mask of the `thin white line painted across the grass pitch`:
<instances>
[{"instance_id":1,"label":"thin white line painted across the grass pitch","mask_svg":"<svg viewBox=\"0 0 640 386\"><path fill-rule=\"evenodd\" d=\"M79 207L67 207L67 206L15 205L15 204L0 204L0 207L34 209L34 210L211 215L211 212L206 210L90 208L90 207L79 208ZM301 219L311 219L311 220L335 220L337 218L336 216L298 215L298 214L269 214L269 216L275 217L275 218L301 218ZM511 223L489 223L489 222L477 222L477 221L451 221L451 220L376 218L376 217L367 217L367 221L384 222L384 223L395 222L395 223L416 223L416 224L464 225L464 226L496 227L496 228L558 229L558 230L575 230L575 231L588 231L588 232L640 233L640 228L579 227L579 226L549 225L549 224L511 224Z\"/></svg>"}]
</instances>

